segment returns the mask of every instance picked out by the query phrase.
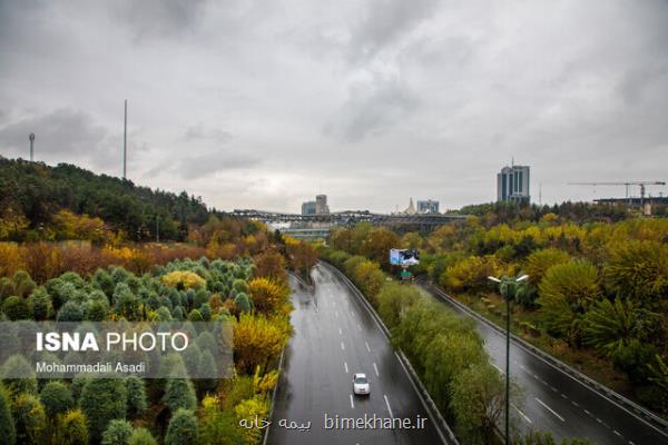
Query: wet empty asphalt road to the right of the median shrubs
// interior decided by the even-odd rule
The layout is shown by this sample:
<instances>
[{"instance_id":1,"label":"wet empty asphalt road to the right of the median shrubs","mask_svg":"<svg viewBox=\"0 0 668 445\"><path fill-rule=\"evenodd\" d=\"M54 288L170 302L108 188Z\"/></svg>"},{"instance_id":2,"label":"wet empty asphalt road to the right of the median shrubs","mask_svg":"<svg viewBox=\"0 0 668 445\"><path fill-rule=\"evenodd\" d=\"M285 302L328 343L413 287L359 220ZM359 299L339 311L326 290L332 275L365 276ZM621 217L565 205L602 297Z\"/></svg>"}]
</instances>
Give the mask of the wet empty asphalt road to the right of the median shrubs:
<instances>
[{"instance_id":1,"label":"wet empty asphalt road to the right of the median shrubs","mask_svg":"<svg viewBox=\"0 0 668 445\"><path fill-rule=\"evenodd\" d=\"M503 373L505 336L475 323L492 364ZM668 444L660 431L514 343L510 356L510 375L525 392L521 411L511 408L523 429L551 431L556 438L588 437L599 445Z\"/></svg>"}]
</instances>

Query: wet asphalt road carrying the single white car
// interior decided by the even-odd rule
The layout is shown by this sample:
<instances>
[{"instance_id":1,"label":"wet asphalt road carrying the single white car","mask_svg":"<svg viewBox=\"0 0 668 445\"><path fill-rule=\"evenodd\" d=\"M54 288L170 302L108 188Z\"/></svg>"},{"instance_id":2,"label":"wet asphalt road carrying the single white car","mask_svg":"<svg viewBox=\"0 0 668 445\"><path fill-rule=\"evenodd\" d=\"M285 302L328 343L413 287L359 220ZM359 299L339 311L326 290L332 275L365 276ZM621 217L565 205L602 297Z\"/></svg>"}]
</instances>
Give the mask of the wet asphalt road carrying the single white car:
<instances>
[{"instance_id":1,"label":"wet asphalt road carrying the single white car","mask_svg":"<svg viewBox=\"0 0 668 445\"><path fill-rule=\"evenodd\" d=\"M324 266L318 265L312 277L314 291L291 278L295 335L285 352L268 444L442 443L410 377L363 304ZM370 378L369 397L353 395L354 373ZM325 415L332 422L335 416L364 419L365 414L390 419L381 422L426 421L423 428L414 429L325 427L332 426L325 425ZM311 429L305 429L308 423Z\"/></svg>"}]
</instances>

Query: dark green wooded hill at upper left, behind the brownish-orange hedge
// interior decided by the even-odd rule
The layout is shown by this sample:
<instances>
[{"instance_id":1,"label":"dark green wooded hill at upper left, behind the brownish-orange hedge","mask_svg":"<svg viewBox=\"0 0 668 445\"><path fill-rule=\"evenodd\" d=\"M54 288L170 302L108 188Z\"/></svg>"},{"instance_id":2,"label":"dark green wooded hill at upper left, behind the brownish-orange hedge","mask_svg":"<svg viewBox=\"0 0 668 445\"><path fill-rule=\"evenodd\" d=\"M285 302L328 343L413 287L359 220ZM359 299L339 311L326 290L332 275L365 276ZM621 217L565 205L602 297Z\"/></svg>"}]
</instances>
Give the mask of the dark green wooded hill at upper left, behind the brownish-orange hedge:
<instances>
[{"instance_id":1,"label":"dark green wooded hill at upper left, behind the brownish-orange hedge","mask_svg":"<svg viewBox=\"0 0 668 445\"><path fill-rule=\"evenodd\" d=\"M59 164L0 157L0 240L186 240L208 217L202 198L151 190L130 180ZM108 231L105 235L105 231Z\"/></svg>"}]
</instances>

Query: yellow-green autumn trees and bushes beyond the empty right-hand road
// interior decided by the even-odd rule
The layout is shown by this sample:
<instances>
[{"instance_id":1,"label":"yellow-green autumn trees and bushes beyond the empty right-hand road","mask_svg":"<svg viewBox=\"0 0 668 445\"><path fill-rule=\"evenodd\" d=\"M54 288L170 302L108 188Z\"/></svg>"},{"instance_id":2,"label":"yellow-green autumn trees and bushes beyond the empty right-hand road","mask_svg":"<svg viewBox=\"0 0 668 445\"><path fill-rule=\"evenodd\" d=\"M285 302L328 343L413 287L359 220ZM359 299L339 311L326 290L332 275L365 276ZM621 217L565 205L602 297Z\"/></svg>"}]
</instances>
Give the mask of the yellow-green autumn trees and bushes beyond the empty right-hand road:
<instances>
[{"instance_id":1,"label":"yellow-green autumn trees and bushes beyond the empty right-hand road","mask_svg":"<svg viewBox=\"0 0 668 445\"><path fill-rule=\"evenodd\" d=\"M666 417L668 218L608 210L489 205L429 235L360 224L327 241L386 271L390 248L416 248L415 274L503 327L505 304L488 277L528 274L513 334Z\"/></svg>"}]
</instances>

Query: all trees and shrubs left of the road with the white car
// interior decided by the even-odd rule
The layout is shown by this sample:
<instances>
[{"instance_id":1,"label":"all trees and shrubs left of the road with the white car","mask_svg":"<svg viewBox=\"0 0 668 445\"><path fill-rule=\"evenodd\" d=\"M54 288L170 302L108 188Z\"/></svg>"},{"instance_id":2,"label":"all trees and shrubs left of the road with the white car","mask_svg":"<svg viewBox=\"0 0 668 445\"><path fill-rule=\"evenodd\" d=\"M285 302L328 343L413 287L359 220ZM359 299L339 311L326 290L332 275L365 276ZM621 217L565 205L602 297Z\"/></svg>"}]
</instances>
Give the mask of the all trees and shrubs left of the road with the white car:
<instances>
[{"instance_id":1,"label":"all trees and shrubs left of the road with the white car","mask_svg":"<svg viewBox=\"0 0 668 445\"><path fill-rule=\"evenodd\" d=\"M317 259L310 245L217 216L186 192L69 165L0 159L0 322L212 322L232 325L234 338L234 373L220 379L45 380L24 358L0 349L0 375L26 376L0 380L0 442L262 441L262 429L239 422L268 416L292 335L287 274L308 276ZM144 241L154 239L156 218L167 243ZM206 344L193 350L170 363L170 375L215 366Z\"/></svg>"}]
</instances>

